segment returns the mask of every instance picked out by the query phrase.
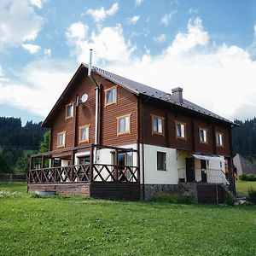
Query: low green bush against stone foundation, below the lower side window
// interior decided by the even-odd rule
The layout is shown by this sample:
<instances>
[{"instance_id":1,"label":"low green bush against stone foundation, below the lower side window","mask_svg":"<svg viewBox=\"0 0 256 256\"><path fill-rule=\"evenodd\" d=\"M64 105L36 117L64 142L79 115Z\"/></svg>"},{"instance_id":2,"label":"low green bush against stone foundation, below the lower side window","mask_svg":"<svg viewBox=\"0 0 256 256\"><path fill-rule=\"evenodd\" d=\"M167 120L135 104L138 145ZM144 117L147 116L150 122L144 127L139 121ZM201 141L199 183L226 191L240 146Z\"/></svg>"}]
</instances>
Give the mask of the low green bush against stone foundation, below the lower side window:
<instances>
[{"instance_id":1,"label":"low green bush against stone foundation, below the lower side window","mask_svg":"<svg viewBox=\"0 0 256 256\"><path fill-rule=\"evenodd\" d=\"M167 202L171 204L192 204L194 203L193 197L188 194L169 194L165 192L160 192L155 196L155 201L158 202Z\"/></svg>"}]
</instances>

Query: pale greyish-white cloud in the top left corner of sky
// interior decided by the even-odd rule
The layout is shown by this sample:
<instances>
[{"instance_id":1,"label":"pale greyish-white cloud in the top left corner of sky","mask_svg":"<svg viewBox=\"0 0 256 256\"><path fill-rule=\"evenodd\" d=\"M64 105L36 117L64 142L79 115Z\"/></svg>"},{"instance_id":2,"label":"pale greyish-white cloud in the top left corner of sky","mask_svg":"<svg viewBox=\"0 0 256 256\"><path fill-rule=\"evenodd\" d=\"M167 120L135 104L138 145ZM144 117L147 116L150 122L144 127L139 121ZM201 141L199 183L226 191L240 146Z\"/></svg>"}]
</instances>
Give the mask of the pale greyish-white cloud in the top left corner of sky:
<instances>
[{"instance_id":1,"label":"pale greyish-white cloud in the top left corner of sky","mask_svg":"<svg viewBox=\"0 0 256 256\"><path fill-rule=\"evenodd\" d=\"M37 38L43 21L26 0L1 0L0 51Z\"/></svg>"}]
</instances>

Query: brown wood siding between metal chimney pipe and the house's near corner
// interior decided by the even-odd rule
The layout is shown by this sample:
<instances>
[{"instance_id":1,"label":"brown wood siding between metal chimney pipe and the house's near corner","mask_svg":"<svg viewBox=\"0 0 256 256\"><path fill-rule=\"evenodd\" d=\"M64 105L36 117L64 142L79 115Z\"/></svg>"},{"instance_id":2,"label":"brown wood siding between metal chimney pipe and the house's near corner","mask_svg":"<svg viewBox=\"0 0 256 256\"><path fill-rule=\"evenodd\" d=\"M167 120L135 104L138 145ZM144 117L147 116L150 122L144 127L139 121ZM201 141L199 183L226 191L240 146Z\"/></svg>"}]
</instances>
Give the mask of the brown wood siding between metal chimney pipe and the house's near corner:
<instances>
[{"instance_id":1,"label":"brown wood siding between metal chimney pipe and the house's near corner","mask_svg":"<svg viewBox=\"0 0 256 256\"><path fill-rule=\"evenodd\" d=\"M115 84L98 75L94 75L94 78L97 84L102 84L100 143L111 146L137 143L137 96L131 91L117 86L117 103L105 107L105 90ZM126 114L131 114L131 134L117 136L117 118Z\"/></svg>"}]
</instances>

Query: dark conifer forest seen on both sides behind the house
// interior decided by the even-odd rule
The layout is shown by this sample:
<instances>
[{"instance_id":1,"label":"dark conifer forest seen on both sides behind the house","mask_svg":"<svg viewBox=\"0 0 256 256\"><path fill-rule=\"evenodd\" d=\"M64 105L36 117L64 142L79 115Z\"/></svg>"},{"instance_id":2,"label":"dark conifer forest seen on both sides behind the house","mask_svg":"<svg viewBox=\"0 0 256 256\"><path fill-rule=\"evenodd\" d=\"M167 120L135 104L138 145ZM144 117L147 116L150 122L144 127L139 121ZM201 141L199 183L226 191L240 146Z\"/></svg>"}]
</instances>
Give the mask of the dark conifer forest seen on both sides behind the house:
<instances>
[{"instance_id":1,"label":"dark conifer forest seen on both sides behind the house","mask_svg":"<svg viewBox=\"0 0 256 256\"><path fill-rule=\"evenodd\" d=\"M235 122L240 126L232 131L233 154L255 163L256 118ZM38 153L41 142L41 147L47 149L45 138L49 139L49 133L44 136L48 130L41 125L28 121L22 126L20 118L0 117L0 173L27 172L30 155Z\"/></svg>"}]
</instances>

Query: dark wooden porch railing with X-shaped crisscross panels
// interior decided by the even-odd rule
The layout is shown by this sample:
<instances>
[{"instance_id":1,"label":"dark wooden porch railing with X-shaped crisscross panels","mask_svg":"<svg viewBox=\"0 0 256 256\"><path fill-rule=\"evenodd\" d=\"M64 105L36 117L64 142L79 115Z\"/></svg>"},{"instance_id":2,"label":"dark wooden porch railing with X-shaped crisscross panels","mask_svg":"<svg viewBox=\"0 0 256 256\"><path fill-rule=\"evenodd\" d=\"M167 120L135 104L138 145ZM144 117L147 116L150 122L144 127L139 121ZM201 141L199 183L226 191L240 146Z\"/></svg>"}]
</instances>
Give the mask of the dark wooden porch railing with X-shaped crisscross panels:
<instances>
[{"instance_id":1,"label":"dark wooden porch railing with X-shaped crisscross panels","mask_svg":"<svg viewBox=\"0 0 256 256\"><path fill-rule=\"evenodd\" d=\"M28 183L139 182L137 166L88 164L32 169Z\"/></svg>"}]
</instances>

